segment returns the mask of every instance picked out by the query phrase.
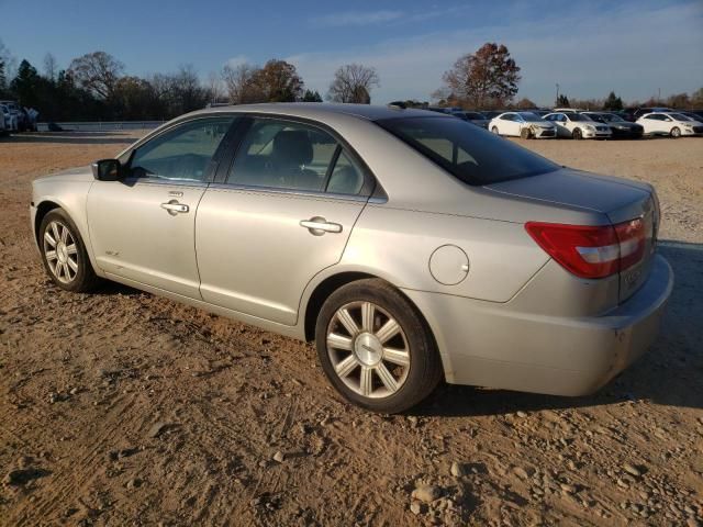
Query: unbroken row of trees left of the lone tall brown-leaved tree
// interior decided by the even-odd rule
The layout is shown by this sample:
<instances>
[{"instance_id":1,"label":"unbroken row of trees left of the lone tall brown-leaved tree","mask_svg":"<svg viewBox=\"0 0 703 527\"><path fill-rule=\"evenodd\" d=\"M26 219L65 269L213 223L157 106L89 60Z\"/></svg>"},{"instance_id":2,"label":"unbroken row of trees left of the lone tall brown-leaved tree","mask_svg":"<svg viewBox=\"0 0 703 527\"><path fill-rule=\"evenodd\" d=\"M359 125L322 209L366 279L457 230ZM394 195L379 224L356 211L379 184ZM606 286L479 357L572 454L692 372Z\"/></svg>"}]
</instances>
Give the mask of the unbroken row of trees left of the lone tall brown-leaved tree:
<instances>
[{"instance_id":1,"label":"unbroken row of trees left of the lone tall brown-leaved tree","mask_svg":"<svg viewBox=\"0 0 703 527\"><path fill-rule=\"evenodd\" d=\"M0 42L0 99L14 99L40 111L42 121L169 120L208 103L322 102L317 91L305 89L295 66L270 59L264 66L225 65L203 82L192 65L170 74L147 77L125 75L119 59L93 52L59 69L48 53L38 71L23 59L9 79L13 58ZM325 94L332 102L371 102L380 85L375 68L348 64L339 67Z\"/></svg>"}]
</instances>

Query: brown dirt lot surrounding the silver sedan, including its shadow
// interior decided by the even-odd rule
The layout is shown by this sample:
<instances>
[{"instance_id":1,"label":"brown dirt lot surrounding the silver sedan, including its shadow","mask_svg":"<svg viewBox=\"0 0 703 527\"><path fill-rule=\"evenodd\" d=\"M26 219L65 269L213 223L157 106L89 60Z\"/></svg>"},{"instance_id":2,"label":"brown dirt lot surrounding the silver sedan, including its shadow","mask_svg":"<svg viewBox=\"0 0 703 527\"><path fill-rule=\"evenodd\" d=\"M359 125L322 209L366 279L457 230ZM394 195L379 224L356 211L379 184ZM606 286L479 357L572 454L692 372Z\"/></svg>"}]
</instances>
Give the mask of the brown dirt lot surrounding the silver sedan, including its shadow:
<instances>
[{"instance_id":1,"label":"brown dirt lot surrounding the silver sedan, including its shadow","mask_svg":"<svg viewBox=\"0 0 703 527\"><path fill-rule=\"evenodd\" d=\"M643 360L590 397L442 386L399 416L342 402L310 345L51 284L30 181L132 138L0 139L0 524L703 525L703 138L521 142L657 187L677 283Z\"/></svg>"}]
</instances>

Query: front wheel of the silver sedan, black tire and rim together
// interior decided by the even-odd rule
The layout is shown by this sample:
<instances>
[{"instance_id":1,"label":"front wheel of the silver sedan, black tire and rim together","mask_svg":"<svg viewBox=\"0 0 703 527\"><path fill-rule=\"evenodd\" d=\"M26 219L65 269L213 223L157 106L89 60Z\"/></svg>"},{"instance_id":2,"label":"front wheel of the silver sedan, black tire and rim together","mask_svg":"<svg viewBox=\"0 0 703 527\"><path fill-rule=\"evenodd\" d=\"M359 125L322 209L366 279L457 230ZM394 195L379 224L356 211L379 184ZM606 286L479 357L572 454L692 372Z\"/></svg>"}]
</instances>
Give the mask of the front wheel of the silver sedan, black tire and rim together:
<instances>
[{"instance_id":1,"label":"front wheel of the silver sedan, black tire and rim together","mask_svg":"<svg viewBox=\"0 0 703 527\"><path fill-rule=\"evenodd\" d=\"M86 244L76 224L63 209L54 209L44 216L40 225L38 245L44 268L60 289L86 293L100 284L88 258Z\"/></svg>"}]
</instances>

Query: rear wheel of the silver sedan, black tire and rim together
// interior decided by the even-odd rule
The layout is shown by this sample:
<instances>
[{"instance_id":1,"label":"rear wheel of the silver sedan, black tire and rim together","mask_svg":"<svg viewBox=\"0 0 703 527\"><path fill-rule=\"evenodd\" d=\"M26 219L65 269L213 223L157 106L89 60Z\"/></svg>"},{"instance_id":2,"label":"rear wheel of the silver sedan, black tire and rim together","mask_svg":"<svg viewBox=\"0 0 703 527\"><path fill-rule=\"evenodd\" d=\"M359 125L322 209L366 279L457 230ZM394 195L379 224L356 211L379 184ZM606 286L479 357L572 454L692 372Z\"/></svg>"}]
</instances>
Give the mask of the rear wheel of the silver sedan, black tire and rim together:
<instances>
[{"instance_id":1,"label":"rear wheel of the silver sedan, black tire and rim together","mask_svg":"<svg viewBox=\"0 0 703 527\"><path fill-rule=\"evenodd\" d=\"M395 333L389 330L393 322ZM337 392L372 412L403 412L429 395L443 377L424 318L379 279L358 280L330 295L317 315L315 345Z\"/></svg>"}]
</instances>

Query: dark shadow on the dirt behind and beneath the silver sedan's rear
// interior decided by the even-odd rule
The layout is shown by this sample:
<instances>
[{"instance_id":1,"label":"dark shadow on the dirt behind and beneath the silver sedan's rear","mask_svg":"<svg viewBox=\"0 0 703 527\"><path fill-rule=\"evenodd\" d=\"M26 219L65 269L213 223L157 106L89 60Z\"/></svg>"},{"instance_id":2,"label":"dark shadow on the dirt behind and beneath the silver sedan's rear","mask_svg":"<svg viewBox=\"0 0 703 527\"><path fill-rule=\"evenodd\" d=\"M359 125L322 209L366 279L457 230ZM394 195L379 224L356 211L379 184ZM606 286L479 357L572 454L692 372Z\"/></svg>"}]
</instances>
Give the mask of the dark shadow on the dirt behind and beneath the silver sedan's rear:
<instances>
[{"instance_id":1,"label":"dark shadow on the dirt behind and beneath the silver sedan's rear","mask_svg":"<svg viewBox=\"0 0 703 527\"><path fill-rule=\"evenodd\" d=\"M637 401L703 408L703 244L660 240L659 251L674 272L659 337L646 355L595 394L560 397L445 384L408 414L481 416Z\"/></svg>"}]
</instances>

